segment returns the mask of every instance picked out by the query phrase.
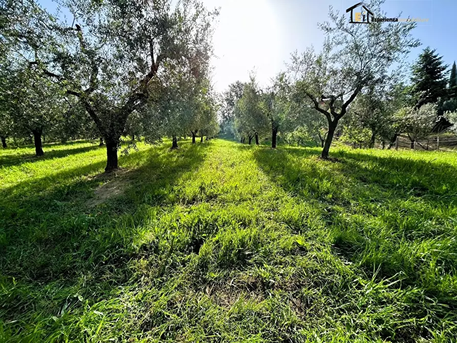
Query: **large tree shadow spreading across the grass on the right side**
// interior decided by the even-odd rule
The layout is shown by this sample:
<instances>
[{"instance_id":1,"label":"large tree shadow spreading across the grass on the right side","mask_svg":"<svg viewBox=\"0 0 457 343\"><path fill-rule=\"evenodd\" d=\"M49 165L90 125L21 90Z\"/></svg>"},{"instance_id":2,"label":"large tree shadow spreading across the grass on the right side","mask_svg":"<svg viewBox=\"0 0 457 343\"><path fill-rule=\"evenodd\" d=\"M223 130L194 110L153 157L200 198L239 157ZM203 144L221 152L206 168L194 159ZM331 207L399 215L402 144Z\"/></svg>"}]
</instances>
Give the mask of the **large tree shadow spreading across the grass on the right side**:
<instances>
[{"instance_id":1,"label":"large tree shadow spreading across the grass on the right side","mask_svg":"<svg viewBox=\"0 0 457 343\"><path fill-rule=\"evenodd\" d=\"M446 218L450 208L455 213L456 168L346 150L333 152L338 162L329 162L319 160L319 152L261 148L253 156L272 182L319 207L335 255L352 260L365 275L401 278L402 286L425 288L431 298L457 307L446 281L438 285L431 277L434 265L451 277L457 269L455 231Z\"/></svg>"}]
</instances>

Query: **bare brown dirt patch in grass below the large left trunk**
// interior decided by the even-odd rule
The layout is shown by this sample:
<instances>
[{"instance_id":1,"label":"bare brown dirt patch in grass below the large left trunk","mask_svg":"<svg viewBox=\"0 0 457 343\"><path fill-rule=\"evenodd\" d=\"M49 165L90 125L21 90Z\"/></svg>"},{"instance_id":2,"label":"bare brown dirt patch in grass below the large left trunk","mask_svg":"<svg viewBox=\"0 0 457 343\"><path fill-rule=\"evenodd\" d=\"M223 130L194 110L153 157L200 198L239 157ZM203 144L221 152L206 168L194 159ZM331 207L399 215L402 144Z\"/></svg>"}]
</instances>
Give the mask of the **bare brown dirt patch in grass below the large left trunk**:
<instances>
[{"instance_id":1,"label":"bare brown dirt patch in grass below the large left trunk","mask_svg":"<svg viewBox=\"0 0 457 343\"><path fill-rule=\"evenodd\" d=\"M97 175L94 180L105 183L98 186L94 191L94 197L86 203L89 207L95 207L107 200L121 196L131 180L126 177L128 169L119 169L110 174Z\"/></svg>"}]
</instances>

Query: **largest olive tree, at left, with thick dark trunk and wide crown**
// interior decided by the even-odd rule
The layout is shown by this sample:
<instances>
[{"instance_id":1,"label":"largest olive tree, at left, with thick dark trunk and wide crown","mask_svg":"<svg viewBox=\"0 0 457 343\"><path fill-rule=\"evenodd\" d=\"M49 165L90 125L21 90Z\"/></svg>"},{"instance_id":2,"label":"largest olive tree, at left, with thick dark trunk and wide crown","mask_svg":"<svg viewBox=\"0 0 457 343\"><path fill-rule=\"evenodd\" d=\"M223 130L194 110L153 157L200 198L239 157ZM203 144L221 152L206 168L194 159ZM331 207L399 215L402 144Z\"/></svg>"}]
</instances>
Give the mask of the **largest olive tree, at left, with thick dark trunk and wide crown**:
<instances>
[{"instance_id":1,"label":"largest olive tree, at left, with thick dark trunk and wide crown","mask_svg":"<svg viewBox=\"0 0 457 343\"><path fill-rule=\"evenodd\" d=\"M168 66L199 75L208 64L217 12L198 0L62 0L60 5L72 22L34 0L3 1L1 34L17 45L18 58L81 101L105 140L105 170L111 171L118 167L129 115L142 112Z\"/></svg>"}]
</instances>

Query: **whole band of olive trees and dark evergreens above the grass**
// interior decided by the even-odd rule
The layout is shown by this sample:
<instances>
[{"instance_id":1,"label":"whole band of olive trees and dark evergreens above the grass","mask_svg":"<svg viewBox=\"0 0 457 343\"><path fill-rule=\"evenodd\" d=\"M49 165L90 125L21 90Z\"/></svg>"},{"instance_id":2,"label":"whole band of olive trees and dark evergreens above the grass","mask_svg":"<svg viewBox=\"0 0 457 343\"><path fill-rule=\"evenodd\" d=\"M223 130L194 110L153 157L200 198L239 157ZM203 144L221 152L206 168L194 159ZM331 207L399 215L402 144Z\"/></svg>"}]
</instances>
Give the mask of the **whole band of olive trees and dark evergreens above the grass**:
<instances>
[{"instance_id":1,"label":"whole band of olive trees and dark evergreens above the grass","mask_svg":"<svg viewBox=\"0 0 457 343\"><path fill-rule=\"evenodd\" d=\"M379 1L370 8L379 14ZM320 52L294 52L267 87L256 75L215 94L210 74L217 10L198 0L62 0L48 13L35 0L0 0L0 137L33 142L96 139L106 171L118 167L122 137L155 144L217 134L242 143L269 137L314 141L329 158L335 138L391 147L454 130L457 70L420 42L414 22L350 24L329 12ZM63 13L70 13L66 18ZM67 15L68 16L68 15ZM449 75L448 75L449 74ZM219 118L218 118L219 117ZM125 139L125 138L124 138Z\"/></svg>"}]
</instances>

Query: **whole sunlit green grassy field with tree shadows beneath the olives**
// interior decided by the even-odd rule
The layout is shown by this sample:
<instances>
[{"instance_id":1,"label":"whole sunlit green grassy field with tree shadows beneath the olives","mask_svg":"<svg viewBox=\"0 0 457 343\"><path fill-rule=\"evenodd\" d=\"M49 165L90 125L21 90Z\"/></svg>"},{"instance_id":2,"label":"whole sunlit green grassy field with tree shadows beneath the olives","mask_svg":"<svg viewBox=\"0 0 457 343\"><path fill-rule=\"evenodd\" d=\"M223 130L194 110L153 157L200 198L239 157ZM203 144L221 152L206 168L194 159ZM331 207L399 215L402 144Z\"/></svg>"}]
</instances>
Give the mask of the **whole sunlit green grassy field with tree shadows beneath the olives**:
<instances>
[{"instance_id":1,"label":"whole sunlit green grassy field with tree shadows beneath the olives","mask_svg":"<svg viewBox=\"0 0 457 343\"><path fill-rule=\"evenodd\" d=\"M457 155L0 154L0 341L452 342Z\"/></svg>"}]
</instances>

